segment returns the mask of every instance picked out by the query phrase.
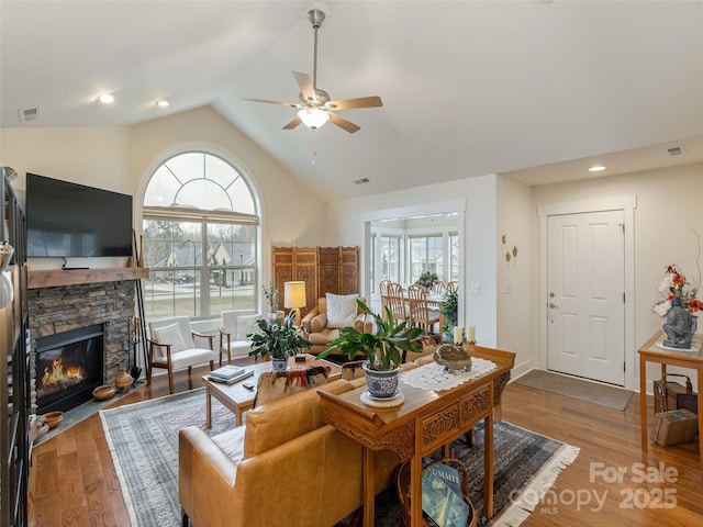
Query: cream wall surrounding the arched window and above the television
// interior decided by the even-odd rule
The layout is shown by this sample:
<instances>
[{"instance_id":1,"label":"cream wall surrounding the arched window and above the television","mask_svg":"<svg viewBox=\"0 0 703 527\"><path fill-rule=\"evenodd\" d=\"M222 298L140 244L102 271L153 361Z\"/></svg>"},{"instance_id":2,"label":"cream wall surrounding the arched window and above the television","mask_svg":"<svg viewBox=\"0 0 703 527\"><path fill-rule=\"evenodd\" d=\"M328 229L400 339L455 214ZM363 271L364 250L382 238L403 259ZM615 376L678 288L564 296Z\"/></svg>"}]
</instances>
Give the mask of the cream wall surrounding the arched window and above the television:
<instances>
[{"instance_id":1,"label":"cream wall surrounding the arched window and above the television","mask_svg":"<svg viewBox=\"0 0 703 527\"><path fill-rule=\"evenodd\" d=\"M323 245L324 204L283 167L209 106L125 127L2 128L0 162L24 173L89 184L135 197L135 227L141 232L142 197L153 171L171 155L202 148L220 155L260 193L265 274L270 279L271 246ZM34 268L59 267L33 261ZM44 266L42 266L44 264ZM48 265L47 265L48 264ZM98 266L96 266L98 267Z\"/></svg>"}]
</instances>

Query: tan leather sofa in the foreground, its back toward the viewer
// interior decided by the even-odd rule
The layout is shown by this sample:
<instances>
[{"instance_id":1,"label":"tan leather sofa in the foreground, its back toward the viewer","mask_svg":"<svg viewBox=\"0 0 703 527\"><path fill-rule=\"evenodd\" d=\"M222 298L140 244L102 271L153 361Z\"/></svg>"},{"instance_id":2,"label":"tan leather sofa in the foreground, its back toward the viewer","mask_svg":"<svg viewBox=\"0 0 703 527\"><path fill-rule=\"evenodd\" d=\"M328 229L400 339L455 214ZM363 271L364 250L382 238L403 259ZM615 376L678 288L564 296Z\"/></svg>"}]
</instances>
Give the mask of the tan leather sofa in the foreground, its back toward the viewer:
<instances>
[{"instance_id":1,"label":"tan leather sofa in the foreground, its back toward the viewer","mask_svg":"<svg viewBox=\"0 0 703 527\"><path fill-rule=\"evenodd\" d=\"M362 449L324 424L317 390L343 393L364 379L336 380L258 406L246 425L211 438L179 434L183 525L331 527L361 506ZM395 453L376 453L376 489L386 489Z\"/></svg>"}]
</instances>

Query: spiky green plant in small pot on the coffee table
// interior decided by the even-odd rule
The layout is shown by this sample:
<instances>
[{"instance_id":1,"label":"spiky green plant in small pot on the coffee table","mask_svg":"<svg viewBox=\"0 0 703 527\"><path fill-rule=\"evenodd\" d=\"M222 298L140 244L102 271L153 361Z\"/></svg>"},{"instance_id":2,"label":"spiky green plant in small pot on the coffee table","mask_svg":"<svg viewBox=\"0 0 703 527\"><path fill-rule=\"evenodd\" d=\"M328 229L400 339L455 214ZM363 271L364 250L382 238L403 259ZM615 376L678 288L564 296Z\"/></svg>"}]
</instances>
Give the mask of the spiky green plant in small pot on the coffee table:
<instances>
[{"instance_id":1,"label":"spiky green plant in small pot on the coffee table","mask_svg":"<svg viewBox=\"0 0 703 527\"><path fill-rule=\"evenodd\" d=\"M252 340L249 355L266 357L270 354L274 370L284 371L291 355L298 355L303 348L312 347L312 343L303 338L300 328L295 327L294 321L294 311L291 311L280 324L266 318L257 321L259 333L247 335Z\"/></svg>"}]
</instances>

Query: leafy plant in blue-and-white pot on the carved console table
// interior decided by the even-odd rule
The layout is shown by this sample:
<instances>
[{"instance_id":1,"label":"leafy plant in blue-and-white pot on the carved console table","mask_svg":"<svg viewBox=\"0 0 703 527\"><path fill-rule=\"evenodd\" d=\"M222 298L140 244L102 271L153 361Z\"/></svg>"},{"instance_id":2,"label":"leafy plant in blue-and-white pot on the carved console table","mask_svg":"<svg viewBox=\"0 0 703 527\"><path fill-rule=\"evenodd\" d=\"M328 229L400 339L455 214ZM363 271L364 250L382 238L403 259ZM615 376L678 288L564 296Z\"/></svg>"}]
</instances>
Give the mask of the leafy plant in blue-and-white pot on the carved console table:
<instances>
[{"instance_id":1,"label":"leafy plant in blue-and-white pot on the carved console table","mask_svg":"<svg viewBox=\"0 0 703 527\"><path fill-rule=\"evenodd\" d=\"M422 334L422 329L405 327L405 321L397 323L388 306L387 319L383 319L360 300L356 302L364 313L373 317L376 332L361 333L354 327L343 327L339 329L339 338L317 358L324 359L335 351L346 355L349 359L354 359L357 352L364 354L367 359L364 362L364 371L369 395L376 399L394 397L398 394L402 352L422 350L422 346L415 340Z\"/></svg>"}]
</instances>

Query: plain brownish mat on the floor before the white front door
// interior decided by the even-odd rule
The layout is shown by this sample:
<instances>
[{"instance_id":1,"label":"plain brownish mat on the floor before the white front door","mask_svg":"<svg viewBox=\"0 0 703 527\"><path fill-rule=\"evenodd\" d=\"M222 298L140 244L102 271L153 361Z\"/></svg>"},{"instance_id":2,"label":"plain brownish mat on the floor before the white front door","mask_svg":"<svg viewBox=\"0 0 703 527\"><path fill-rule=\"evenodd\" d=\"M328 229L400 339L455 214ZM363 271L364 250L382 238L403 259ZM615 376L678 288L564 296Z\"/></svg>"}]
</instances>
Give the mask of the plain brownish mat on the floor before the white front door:
<instances>
[{"instance_id":1,"label":"plain brownish mat on the floor before the white front door","mask_svg":"<svg viewBox=\"0 0 703 527\"><path fill-rule=\"evenodd\" d=\"M622 388L606 386L544 370L531 370L513 382L620 411L627 407L634 393Z\"/></svg>"}]
</instances>

